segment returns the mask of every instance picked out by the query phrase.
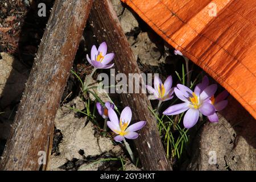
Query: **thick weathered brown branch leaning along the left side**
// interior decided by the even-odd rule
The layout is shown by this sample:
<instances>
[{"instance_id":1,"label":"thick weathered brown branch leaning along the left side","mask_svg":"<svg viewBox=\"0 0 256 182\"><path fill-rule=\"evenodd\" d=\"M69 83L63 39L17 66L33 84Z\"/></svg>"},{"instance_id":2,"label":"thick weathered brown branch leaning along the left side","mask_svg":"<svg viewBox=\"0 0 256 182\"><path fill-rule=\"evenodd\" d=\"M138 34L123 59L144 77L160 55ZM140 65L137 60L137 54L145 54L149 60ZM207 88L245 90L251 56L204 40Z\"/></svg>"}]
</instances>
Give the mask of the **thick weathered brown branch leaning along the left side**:
<instances>
[{"instance_id":1,"label":"thick weathered brown branch leaning along the left side","mask_svg":"<svg viewBox=\"0 0 256 182\"><path fill-rule=\"evenodd\" d=\"M38 170L39 151L47 156L47 140L91 7L92 0L55 1L0 169Z\"/></svg>"}]
</instances>

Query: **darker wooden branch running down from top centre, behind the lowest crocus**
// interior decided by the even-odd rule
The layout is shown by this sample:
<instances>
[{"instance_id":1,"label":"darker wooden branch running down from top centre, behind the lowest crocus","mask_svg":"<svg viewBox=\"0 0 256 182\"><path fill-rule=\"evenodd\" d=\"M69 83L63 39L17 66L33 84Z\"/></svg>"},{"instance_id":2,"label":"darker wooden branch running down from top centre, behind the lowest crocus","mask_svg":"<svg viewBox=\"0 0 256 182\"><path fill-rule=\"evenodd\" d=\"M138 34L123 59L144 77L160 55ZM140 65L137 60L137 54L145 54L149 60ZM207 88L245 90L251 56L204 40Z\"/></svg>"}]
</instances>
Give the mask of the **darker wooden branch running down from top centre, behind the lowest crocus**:
<instances>
[{"instance_id":1,"label":"darker wooden branch running down from top centre, behind the lowest crocus","mask_svg":"<svg viewBox=\"0 0 256 182\"><path fill-rule=\"evenodd\" d=\"M115 68L120 73L140 73L137 61L127 42L126 36L118 22L112 4L109 0L95 0L89 17L98 42L108 44L110 51L115 53ZM139 131L135 139L143 168L146 170L170 170L162 142L159 137L155 118L148 110L151 107L146 94L121 94L123 106L133 110L133 121L147 121L147 125Z\"/></svg>"}]
</instances>

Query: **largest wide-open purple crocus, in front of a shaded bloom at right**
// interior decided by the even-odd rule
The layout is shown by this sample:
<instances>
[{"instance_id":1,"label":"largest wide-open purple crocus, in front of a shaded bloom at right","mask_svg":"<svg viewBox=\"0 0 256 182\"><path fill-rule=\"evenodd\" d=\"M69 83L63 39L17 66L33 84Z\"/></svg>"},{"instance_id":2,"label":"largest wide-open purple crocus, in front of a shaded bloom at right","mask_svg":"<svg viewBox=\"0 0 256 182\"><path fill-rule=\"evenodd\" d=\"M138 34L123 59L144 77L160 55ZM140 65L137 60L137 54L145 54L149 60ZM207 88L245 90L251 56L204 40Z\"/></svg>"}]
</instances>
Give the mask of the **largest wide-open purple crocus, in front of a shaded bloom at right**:
<instances>
[{"instance_id":1,"label":"largest wide-open purple crocus, in front of a shaded bloom at right","mask_svg":"<svg viewBox=\"0 0 256 182\"><path fill-rule=\"evenodd\" d=\"M209 99L216 92L217 85L209 85L201 91L202 88L202 85L197 85L194 92L192 92L187 86L177 84L177 88L174 89L174 92L184 103L168 107L163 114L176 115L188 110L183 119L183 125L187 129L196 125L200 113L207 116L212 115L215 109L214 106L209 103Z\"/></svg>"}]
</instances>

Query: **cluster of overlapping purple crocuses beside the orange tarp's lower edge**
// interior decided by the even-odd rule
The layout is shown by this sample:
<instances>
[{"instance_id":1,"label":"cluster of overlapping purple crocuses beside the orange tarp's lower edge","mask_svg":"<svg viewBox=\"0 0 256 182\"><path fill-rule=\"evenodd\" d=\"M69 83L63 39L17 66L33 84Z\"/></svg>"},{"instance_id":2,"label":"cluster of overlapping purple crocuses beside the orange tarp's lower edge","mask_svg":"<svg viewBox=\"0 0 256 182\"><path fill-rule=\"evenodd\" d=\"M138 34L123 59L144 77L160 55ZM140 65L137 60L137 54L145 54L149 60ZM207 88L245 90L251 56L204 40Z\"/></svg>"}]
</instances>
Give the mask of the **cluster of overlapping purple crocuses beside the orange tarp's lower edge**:
<instances>
[{"instance_id":1,"label":"cluster of overlapping purple crocuses beside the orange tarp's lower edge","mask_svg":"<svg viewBox=\"0 0 256 182\"><path fill-rule=\"evenodd\" d=\"M183 125L189 129L196 125L201 114L207 116L211 122L218 122L216 110L224 109L228 101L224 100L228 95L227 92L222 92L216 100L214 93L217 90L217 85L209 85L208 77L204 77L200 84L197 84L192 91L187 86L177 84L174 92L181 101L181 104L176 104L168 107L164 115L176 115L187 111L184 115ZM216 98L217 98L216 97ZM217 107L216 107L217 106Z\"/></svg>"}]
</instances>

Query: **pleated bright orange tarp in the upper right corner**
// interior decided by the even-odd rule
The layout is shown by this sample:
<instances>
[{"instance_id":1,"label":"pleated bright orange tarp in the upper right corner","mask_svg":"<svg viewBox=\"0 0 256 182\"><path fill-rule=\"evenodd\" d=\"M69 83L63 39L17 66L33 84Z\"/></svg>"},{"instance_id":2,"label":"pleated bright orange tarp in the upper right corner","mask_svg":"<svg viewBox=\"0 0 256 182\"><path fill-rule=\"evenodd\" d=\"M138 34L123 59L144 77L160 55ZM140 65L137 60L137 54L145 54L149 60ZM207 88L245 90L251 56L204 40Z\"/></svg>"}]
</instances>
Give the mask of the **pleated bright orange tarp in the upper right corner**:
<instances>
[{"instance_id":1,"label":"pleated bright orange tarp in the upper right corner","mask_svg":"<svg viewBox=\"0 0 256 182\"><path fill-rule=\"evenodd\" d=\"M256 118L256 0L122 0Z\"/></svg>"}]
</instances>

